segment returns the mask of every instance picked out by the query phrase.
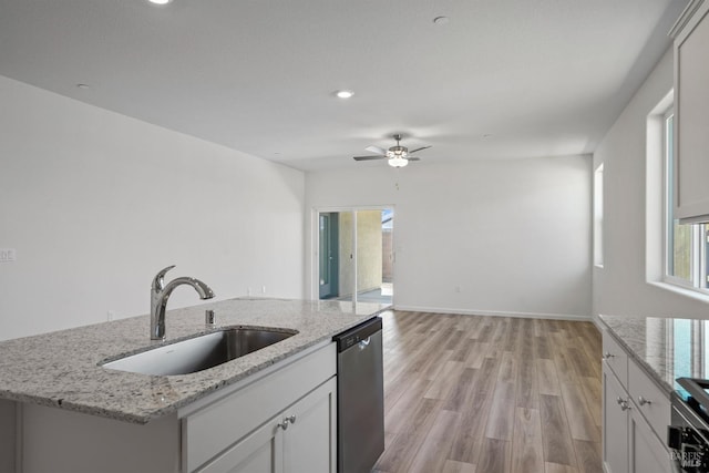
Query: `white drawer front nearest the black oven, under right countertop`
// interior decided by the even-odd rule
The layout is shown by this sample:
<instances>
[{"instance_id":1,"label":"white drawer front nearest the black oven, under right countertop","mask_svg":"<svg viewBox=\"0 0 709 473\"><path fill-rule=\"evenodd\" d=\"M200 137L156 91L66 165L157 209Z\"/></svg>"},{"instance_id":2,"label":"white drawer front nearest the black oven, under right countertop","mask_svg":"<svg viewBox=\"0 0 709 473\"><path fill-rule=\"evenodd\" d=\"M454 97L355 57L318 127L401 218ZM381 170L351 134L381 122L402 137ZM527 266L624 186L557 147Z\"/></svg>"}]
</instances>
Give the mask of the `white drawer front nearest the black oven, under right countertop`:
<instances>
[{"instance_id":1,"label":"white drawer front nearest the black oven, under right countertop","mask_svg":"<svg viewBox=\"0 0 709 473\"><path fill-rule=\"evenodd\" d=\"M664 439L670 424L669 397L634 361L628 362L628 394L655 433ZM648 402L649 401L649 402Z\"/></svg>"}]
</instances>

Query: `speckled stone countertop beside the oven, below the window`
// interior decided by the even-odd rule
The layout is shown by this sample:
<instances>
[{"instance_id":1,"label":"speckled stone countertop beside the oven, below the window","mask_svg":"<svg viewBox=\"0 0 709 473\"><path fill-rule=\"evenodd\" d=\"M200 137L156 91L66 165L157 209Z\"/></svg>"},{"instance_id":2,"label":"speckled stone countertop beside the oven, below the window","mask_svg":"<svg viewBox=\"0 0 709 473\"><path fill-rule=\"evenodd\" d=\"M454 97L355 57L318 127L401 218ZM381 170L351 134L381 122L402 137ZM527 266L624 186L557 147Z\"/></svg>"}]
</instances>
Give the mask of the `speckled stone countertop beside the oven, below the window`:
<instances>
[{"instance_id":1,"label":"speckled stone countertop beside the oven, below the window","mask_svg":"<svg viewBox=\"0 0 709 473\"><path fill-rule=\"evenodd\" d=\"M600 316L610 335L666 392L709 378L709 320Z\"/></svg>"}]
</instances>

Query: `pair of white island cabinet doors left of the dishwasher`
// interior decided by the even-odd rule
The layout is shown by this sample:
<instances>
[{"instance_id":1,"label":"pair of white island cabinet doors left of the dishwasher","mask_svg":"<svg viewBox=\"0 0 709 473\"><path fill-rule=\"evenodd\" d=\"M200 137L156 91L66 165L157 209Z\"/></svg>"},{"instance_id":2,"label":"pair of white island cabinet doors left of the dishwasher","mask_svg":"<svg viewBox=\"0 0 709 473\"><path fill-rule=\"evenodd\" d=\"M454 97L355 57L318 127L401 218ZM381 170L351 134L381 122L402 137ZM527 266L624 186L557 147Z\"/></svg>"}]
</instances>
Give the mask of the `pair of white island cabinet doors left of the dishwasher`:
<instances>
[{"instance_id":1,"label":"pair of white island cabinet doors left of the dishwasher","mask_svg":"<svg viewBox=\"0 0 709 473\"><path fill-rule=\"evenodd\" d=\"M330 379L197 471L335 473L336 389Z\"/></svg>"}]
</instances>

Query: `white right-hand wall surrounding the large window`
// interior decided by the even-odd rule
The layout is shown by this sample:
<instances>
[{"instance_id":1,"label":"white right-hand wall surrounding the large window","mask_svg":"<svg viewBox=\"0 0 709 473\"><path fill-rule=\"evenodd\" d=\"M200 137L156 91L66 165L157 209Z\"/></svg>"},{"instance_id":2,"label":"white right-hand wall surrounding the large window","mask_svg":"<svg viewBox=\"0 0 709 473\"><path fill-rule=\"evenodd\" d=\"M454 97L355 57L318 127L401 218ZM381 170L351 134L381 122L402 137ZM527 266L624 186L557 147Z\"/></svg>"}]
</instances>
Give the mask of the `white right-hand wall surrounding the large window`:
<instances>
[{"instance_id":1,"label":"white right-hand wall surrounding the large window","mask_svg":"<svg viewBox=\"0 0 709 473\"><path fill-rule=\"evenodd\" d=\"M653 241L661 232L661 199L654 198L651 192L647 196L647 174L651 181L658 175L646 165L648 152L653 152L647 123L671 89L670 49L594 154L594 167L604 163L604 267L594 268L595 315L709 318L709 298L654 284L660 255Z\"/></svg>"}]
</instances>

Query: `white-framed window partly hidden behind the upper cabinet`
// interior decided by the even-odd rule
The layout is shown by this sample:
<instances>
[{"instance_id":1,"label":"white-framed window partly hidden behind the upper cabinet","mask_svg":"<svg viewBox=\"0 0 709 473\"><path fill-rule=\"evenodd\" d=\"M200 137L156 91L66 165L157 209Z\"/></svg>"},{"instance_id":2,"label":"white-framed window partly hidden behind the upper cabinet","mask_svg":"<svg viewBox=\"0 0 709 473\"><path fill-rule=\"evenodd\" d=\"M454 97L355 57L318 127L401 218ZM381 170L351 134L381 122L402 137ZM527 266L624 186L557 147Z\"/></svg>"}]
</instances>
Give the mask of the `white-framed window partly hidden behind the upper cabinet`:
<instances>
[{"instance_id":1,"label":"white-framed window partly hidden behind the upper cabinet","mask_svg":"<svg viewBox=\"0 0 709 473\"><path fill-rule=\"evenodd\" d=\"M674 125L668 111L664 120L665 137L665 279L695 289L707 290L707 225L684 225L674 216Z\"/></svg>"}]
</instances>

